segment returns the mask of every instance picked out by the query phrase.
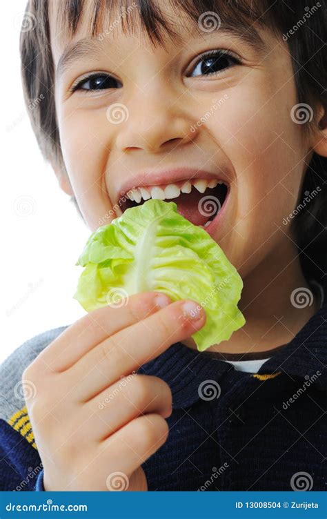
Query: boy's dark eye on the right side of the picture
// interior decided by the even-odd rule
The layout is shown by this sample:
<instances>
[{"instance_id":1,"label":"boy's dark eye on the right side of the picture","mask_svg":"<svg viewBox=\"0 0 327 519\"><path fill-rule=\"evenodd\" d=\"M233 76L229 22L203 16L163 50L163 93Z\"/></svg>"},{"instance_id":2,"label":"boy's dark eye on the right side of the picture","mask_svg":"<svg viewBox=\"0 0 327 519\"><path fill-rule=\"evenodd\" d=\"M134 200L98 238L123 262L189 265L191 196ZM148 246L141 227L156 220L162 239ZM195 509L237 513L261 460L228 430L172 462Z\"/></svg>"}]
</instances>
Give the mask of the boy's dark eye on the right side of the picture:
<instances>
[{"instance_id":1,"label":"boy's dark eye on the right side of the picture","mask_svg":"<svg viewBox=\"0 0 327 519\"><path fill-rule=\"evenodd\" d=\"M241 61L227 50L210 50L198 59L188 77L217 75L226 68L240 63Z\"/></svg>"}]
</instances>

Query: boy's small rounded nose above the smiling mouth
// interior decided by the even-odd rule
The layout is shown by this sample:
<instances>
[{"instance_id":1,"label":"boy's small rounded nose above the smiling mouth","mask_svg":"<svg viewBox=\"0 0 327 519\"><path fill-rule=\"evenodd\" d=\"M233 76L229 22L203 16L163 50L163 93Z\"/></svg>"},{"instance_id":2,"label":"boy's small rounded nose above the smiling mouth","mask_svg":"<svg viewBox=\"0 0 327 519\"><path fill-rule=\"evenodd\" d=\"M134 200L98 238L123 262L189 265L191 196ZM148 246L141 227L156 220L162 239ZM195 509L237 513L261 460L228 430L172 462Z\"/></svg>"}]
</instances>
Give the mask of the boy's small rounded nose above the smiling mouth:
<instances>
[{"instance_id":1,"label":"boy's small rounded nose above the smiling mouth","mask_svg":"<svg viewBox=\"0 0 327 519\"><path fill-rule=\"evenodd\" d=\"M123 152L162 153L195 138L188 115L160 92L156 99L134 99L126 108L128 118L117 128L116 139L116 146Z\"/></svg>"}]
</instances>

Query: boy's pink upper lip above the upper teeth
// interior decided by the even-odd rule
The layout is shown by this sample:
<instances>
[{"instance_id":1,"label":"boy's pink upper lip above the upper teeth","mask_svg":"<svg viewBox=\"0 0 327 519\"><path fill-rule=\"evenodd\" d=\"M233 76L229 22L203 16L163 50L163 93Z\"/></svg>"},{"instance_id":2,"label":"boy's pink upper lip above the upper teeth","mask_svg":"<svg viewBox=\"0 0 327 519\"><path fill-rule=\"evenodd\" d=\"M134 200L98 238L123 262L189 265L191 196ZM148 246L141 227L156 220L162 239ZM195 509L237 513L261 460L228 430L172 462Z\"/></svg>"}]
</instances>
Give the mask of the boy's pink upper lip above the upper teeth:
<instances>
[{"instance_id":1,"label":"boy's pink upper lip above the upper teeth","mask_svg":"<svg viewBox=\"0 0 327 519\"><path fill-rule=\"evenodd\" d=\"M163 170L157 173L140 173L140 175L133 176L131 179L126 180L126 182L124 182L121 185L121 188L119 189L119 198L117 199L117 202L119 202L119 199L126 195L128 191L132 190L132 188L146 186L162 186L174 184L175 182L181 182L183 180L191 180L197 178L208 180L222 180L222 182L224 182L224 184L226 184L226 186L228 187L230 184L230 180L226 177L224 173L211 173L209 171L204 171L195 168L174 168L170 170Z\"/></svg>"}]
</instances>

